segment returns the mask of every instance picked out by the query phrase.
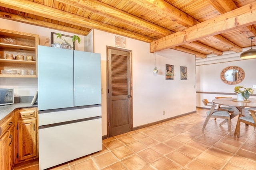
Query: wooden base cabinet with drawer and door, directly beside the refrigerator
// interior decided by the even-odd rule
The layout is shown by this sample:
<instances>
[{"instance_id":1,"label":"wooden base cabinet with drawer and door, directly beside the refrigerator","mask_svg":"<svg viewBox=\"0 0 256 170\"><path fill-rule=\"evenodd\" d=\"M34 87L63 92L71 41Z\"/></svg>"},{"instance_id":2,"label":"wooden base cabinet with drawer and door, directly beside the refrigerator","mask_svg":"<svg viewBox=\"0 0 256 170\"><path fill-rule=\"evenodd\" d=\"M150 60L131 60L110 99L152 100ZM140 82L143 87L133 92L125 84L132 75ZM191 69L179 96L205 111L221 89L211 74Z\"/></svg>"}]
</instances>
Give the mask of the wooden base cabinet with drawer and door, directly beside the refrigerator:
<instances>
[{"instance_id":1,"label":"wooden base cabinet with drawer and door, directly beside the refrigerator","mask_svg":"<svg viewBox=\"0 0 256 170\"><path fill-rule=\"evenodd\" d=\"M17 145L16 164L38 158L38 109L16 109Z\"/></svg>"}]
</instances>

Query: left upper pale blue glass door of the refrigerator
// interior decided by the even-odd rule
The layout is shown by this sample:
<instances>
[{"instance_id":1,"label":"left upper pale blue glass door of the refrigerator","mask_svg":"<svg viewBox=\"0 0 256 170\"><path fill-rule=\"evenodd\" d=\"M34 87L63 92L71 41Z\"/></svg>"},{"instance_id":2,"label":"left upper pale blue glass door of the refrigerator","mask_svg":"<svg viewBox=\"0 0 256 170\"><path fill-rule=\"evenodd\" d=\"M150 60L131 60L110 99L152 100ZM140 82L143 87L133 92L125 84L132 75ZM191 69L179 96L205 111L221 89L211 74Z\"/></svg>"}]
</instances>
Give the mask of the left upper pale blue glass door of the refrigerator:
<instances>
[{"instance_id":1,"label":"left upper pale blue glass door of the refrigerator","mask_svg":"<svg viewBox=\"0 0 256 170\"><path fill-rule=\"evenodd\" d=\"M74 106L73 50L38 45L38 109Z\"/></svg>"}]
</instances>

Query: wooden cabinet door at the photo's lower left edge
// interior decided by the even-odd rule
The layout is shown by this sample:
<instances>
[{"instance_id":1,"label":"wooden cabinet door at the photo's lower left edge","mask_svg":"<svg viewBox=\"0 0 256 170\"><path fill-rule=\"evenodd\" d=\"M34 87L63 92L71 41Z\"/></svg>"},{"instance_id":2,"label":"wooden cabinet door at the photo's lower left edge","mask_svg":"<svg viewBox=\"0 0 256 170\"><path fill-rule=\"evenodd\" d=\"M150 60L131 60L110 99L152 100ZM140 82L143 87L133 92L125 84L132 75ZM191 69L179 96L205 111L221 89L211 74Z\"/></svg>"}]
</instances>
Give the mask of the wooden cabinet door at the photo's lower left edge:
<instances>
[{"instance_id":1,"label":"wooden cabinet door at the photo's lower left edge","mask_svg":"<svg viewBox=\"0 0 256 170\"><path fill-rule=\"evenodd\" d=\"M9 170L9 131L0 139L0 170Z\"/></svg>"}]
</instances>

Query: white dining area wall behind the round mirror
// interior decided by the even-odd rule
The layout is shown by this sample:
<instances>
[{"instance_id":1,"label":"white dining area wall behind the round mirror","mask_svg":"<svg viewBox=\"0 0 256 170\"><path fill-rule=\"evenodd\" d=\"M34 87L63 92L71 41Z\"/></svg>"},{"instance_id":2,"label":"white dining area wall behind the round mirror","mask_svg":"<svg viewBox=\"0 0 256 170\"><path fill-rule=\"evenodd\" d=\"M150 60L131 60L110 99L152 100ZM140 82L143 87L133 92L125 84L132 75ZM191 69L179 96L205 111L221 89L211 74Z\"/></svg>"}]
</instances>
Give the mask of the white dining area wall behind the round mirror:
<instances>
[{"instance_id":1,"label":"white dining area wall behind the round mirror","mask_svg":"<svg viewBox=\"0 0 256 170\"><path fill-rule=\"evenodd\" d=\"M220 93L234 93L235 86L246 86L253 88L256 85L256 59L241 60L239 58L240 53L234 53L229 59L224 59L224 56L214 57L216 60L212 60L211 57L207 59L199 59L198 61L204 61L204 63L211 63L205 65L196 66L196 91L197 92L220 92ZM219 63L222 59L224 63ZM202 64L198 62L199 64ZM242 82L235 85L229 85L222 82L220 79L220 73L227 66L239 66L245 72L245 77ZM256 93L256 89L254 89ZM212 101L216 96L232 96L236 98L236 95L218 95L218 94L196 94L196 106L205 107L202 103L202 99L206 98L208 101ZM250 96L250 98L256 98L256 96Z\"/></svg>"}]
</instances>

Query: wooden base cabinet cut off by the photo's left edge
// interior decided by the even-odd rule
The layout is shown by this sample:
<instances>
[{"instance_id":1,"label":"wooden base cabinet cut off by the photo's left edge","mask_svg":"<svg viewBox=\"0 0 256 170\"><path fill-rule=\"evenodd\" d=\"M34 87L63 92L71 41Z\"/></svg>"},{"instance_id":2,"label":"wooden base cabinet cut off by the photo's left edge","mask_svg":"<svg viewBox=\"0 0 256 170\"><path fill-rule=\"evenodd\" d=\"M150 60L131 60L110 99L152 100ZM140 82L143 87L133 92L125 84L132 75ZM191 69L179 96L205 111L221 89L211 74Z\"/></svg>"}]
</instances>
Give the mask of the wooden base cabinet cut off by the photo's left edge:
<instances>
[{"instance_id":1,"label":"wooden base cabinet cut off by the photo's left edge","mask_svg":"<svg viewBox=\"0 0 256 170\"><path fill-rule=\"evenodd\" d=\"M0 170L12 170L14 166L14 114L0 121Z\"/></svg>"}]
</instances>

